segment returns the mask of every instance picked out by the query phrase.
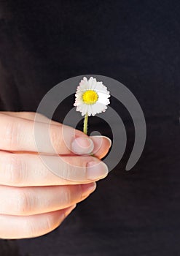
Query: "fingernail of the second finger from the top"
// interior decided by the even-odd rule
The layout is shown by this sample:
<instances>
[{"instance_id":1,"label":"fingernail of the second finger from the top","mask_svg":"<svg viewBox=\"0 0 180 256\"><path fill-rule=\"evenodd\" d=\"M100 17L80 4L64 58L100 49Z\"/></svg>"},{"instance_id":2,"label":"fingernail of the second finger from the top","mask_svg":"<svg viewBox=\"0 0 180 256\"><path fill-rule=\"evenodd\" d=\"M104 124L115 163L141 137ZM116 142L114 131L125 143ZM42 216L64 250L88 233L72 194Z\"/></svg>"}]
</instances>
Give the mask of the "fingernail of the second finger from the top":
<instances>
[{"instance_id":1,"label":"fingernail of the second finger from the top","mask_svg":"<svg viewBox=\"0 0 180 256\"><path fill-rule=\"evenodd\" d=\"M109 173L107 165L103 162L88 162L87 163L87 179L105 178Z\"/></svg>"}]
</instances>

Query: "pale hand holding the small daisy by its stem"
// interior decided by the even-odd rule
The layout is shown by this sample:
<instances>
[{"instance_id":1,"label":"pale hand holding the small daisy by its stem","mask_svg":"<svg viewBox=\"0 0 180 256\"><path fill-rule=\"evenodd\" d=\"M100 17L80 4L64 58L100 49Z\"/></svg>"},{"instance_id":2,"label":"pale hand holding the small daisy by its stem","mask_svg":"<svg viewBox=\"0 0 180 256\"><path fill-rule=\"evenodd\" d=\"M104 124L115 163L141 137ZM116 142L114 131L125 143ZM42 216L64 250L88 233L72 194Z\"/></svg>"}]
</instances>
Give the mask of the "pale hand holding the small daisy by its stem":
<instances>
[{"instance_id":1,"label":"pale hand holding the small daisy by its stem","mask_svg":"<svg viewBox=\"0 0 180 256\"><path fill-rule=\"evenodd\" d=\"M95 181L108 174L101 161L111 146L108 138L88 138L51 121L50 140L57 155L43 144L49 119L39 115L41 154L57 168L49 170L36 149L34 116L0 112L0 238L32 238L51 232L95 190ZM67 141L62 138L62 127L69 135Z\"/></svg>"}]
</instances>

